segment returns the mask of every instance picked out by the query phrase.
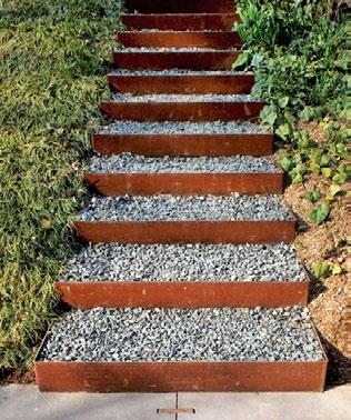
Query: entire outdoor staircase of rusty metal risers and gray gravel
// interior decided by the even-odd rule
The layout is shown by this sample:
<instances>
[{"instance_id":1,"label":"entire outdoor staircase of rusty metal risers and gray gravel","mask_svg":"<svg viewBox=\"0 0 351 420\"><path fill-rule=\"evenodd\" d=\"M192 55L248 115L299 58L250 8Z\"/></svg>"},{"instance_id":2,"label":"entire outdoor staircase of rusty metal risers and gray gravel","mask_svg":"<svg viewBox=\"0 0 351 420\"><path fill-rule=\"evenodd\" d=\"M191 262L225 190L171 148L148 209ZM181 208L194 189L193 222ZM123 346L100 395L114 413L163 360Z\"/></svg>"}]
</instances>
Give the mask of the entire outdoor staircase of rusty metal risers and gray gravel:
<instances>
[{"instance_id":1,"label":"entire outdoor staircase of rusty metal risers and gray gravel","mask_svg":"<svg viewBox=\"0 0 351 420\"><path fill-rule=\"evenodd\" d=\"M90 244L56 283L73 310L43 340L39 389L323 390L273 133L253 74L231 71L232 0L126 7L84 177L97 196L73 223Z\"/></svg>"}]
</instances>

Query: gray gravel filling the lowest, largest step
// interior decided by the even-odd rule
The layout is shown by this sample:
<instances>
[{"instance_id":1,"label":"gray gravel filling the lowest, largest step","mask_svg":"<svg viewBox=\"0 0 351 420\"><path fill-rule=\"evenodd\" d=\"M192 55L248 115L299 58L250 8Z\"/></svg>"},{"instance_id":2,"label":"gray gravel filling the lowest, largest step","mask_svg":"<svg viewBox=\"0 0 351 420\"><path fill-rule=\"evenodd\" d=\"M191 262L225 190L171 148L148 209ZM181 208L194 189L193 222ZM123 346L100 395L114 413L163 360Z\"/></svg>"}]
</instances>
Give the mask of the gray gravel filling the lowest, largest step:
<instances>
[{"instance_id":1,"label":"gray gravel filling the lowest, largest step","mask_svg":"<svg viewBox=\"0 0 351 420\"><path fill-rule=\"evenodd\" d=\"M302 361L323 353L308 310L92 309L56 323L41 360Z\"/></svg>"}]
</instances>

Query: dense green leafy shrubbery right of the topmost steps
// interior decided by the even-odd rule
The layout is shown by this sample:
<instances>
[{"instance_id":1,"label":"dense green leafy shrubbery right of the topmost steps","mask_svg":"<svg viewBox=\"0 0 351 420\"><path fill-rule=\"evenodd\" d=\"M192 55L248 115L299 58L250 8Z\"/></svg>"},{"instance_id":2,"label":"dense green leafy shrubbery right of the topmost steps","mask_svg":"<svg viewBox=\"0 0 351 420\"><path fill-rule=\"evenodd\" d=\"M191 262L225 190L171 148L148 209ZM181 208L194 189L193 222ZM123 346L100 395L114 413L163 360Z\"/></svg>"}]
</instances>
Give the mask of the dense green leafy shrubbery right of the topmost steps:
<instances>
[{"instance_id":1,"label":"dense green leafy shrubbery right of the topmost steps","mask_svg":"<svg viewBox=\"0 0 351 420\"><path fill-rule=\"evenodd\" d=\"M252 93L279 114L272 120L265 110L263 122L278 128L291 126L292 117L339 116L345 98L345 23L331 1L241 0L238 10L242 21L234 30L245 52L235 67L255 71ZM287 127L281 130L287 137Z\"/></svg>"}]
</instances>

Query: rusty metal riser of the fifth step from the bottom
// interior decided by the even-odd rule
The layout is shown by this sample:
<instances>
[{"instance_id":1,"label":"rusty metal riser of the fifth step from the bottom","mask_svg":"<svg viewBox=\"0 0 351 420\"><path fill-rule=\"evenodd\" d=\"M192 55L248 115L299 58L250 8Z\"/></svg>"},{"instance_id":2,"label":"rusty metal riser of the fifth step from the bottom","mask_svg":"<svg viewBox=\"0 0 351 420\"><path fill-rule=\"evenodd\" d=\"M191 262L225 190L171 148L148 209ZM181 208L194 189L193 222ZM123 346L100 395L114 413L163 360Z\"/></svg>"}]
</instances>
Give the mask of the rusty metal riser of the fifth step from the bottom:
<instances>
[{"instance_id":1,"label":"rusty metal riser of the fifth step from the bottom","mask_svg":"<svg viewBox=\"0 0 351 420\"><path fill-rule=\"evenodd\" d=\"M269 156L273 134L92 134L93 150L101 154L130 152L160 156Z\"/></svg>"}]
</instances>

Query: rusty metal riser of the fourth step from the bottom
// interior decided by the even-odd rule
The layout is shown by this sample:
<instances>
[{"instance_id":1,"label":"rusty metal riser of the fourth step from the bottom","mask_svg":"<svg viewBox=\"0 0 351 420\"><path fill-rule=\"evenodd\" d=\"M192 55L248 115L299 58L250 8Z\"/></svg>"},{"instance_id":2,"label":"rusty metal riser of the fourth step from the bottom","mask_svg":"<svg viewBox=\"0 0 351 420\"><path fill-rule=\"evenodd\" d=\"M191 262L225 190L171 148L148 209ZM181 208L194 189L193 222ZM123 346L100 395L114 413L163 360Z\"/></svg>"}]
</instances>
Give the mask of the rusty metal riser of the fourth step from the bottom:
<instances>
[{"instance_id":1,"label":"rusty metal riser of the fourth step from the bottom","mask_svg":"<svg viewBox=\"0 0 351 420\"><path fill-rule=\"evenodd\" d=\"M275 194L282 192L283 172L273 173L86 173L89 182L103 196L178 196Z\"/></svg>"}]
</instances>

